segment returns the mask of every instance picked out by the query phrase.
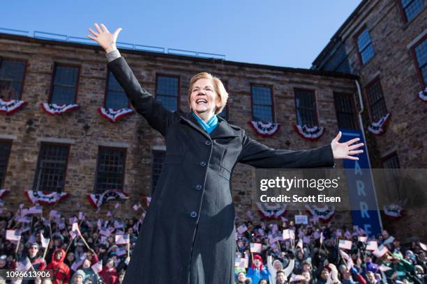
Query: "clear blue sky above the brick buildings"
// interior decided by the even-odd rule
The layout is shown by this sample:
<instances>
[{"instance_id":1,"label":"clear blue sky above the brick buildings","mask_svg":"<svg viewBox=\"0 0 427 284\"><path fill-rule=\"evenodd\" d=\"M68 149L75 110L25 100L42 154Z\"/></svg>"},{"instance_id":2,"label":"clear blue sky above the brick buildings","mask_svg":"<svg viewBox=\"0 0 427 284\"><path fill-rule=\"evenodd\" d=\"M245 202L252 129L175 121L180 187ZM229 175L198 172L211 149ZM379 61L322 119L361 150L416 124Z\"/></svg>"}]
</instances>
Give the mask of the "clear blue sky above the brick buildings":
<instances>
[{"instance_id":1,"label":"clear blue sky above the brick buildings","mask_svg":"<svg viewBox=\"0 0 427 284\"><path fill-rule=\"evenodd\" d=\"M6 0L4 29L86 37L93 23L119 42L225 54L229 61L310 68L361 0Z\"/></svg>"}]
</instances>

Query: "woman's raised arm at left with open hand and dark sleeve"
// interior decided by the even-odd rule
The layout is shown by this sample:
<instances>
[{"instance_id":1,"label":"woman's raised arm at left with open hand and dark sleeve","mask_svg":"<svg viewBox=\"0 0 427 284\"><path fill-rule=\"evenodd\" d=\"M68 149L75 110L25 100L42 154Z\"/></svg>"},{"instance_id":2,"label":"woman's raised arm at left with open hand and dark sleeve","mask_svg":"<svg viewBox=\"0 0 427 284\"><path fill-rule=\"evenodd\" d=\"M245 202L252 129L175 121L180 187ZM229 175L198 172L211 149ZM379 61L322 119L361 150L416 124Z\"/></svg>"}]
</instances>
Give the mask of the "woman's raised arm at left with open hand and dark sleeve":
<instances>
[{"instance_id":1,"label":"woman's raised arm at left with open hand and dark sleeve","mask_svg":"<svg viewBox=\"0 0 427 284\"><path fill-rule=\"evenodd\" d=\"M179 119L178 115L163 107L147 90L142 88L128 63L120 56L116 47L116 40L121 28L114 31L114 33L110 33L104 24L100 24L100 26L95 24L95 27L98 32L89 28L93 36L88 35L88 38L98 42L107 52L107 58L110 61L108 68L114 74L123 90L125 90L135 110L147 119L151 127L165 136L167 127Z\"/></svg>"}]
</instances>

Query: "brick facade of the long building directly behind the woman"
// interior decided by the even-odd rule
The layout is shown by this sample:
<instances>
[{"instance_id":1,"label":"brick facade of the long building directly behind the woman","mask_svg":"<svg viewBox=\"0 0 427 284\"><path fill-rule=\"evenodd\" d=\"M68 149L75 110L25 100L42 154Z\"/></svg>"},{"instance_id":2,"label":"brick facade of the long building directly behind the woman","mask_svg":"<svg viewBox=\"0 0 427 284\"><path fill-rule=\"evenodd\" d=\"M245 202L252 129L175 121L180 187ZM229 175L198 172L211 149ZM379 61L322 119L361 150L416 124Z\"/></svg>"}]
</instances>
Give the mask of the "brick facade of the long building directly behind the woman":
<instances>
[{"instance_id":1,"label":"brick facade of the long building directly behind the woman","mask_svg":"<svg viewBox=\"0 0 427 284\"><path fill-rule=\"evenodd\" d=\"M186 94L195 73L208 71L220 77L230 93L223 115L230 123L244 127L257 141L273 148L297 150L330 143L337 133L334 93L353 96L356 88L357 77L348 74L124 49L121 54L140 84L171 109L178 105L188 111ZM13 80L21 84L22 88L16 90L22 92L15 95L28 103L12 116L0 117L1 187L10 189L5 198L6 207L14 208L22 201L28 204L24 197L26 189L47 187L70 194L57 208L72 214L77 203L90 207L86 194L122 186L130 199L116 214L135 214L130 208L142 196L150 195L165 146L163 137L140 115L110 123L97 112L105 104L128 104L114 78L108 76L105 53L91 45L1 34L0 57L0 68L21 70L22 80L19 76ZM23 63L13 65L14 62ZM3 78L3 84L7 80ZM3 92L5 95L10 92ZM308 106L308 109L300 107L298 119L313 120L324 126L324 134L316 142L306 141L294 132L296 95L305 102L301 107ZM80 108L50 116L40 107L43 102L67 100ZM280 130L269 138L258 136L248 125L255 116L272 118L281 124ZM251 205L250 168L239 164L232 178L232 195L243 218ZM114 203L103 206L100 214L113 206ZM95 210L89 211L95 214ZM334 221L350 225L350 214L336 214Z\"/></svg>"}]
</instances>

